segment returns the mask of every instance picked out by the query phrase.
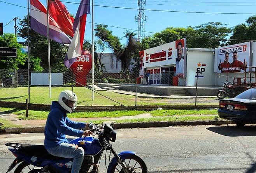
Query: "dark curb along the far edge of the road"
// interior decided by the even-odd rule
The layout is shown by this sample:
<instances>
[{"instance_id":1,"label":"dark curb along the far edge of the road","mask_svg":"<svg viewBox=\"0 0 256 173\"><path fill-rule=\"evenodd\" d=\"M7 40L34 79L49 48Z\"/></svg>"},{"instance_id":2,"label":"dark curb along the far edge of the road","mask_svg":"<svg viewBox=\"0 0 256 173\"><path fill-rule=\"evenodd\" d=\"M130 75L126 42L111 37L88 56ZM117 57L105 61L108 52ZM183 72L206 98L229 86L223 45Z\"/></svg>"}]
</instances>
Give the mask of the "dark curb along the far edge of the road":
<instances>
[{"instance_id":1,"label":"dark curb along the far edge of the road","mask_svg":"<svg viewBox=\"0 0 256 173\"><path fill-rule=\"evenodd\" d=\"M182 122L128 122L112 123L113 129L127 128L164 128L169 126L197 126L197 125L223 125L235 124L233 121L182 121ZM44 126L26 127L26 128L6 128L5 133L43 133Z\"/></svg>"}]
</instances>

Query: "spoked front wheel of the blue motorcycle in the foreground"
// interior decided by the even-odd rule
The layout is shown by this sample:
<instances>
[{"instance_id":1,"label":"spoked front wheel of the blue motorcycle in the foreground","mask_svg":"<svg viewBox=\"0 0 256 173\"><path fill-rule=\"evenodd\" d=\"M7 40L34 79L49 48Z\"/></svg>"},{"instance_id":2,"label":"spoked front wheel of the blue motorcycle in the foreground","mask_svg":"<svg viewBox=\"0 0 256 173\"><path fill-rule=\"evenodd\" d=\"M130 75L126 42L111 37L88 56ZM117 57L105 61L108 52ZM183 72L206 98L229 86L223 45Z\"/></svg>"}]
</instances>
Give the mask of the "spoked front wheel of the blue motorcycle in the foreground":
<instances>
[{"instance_id":1,"label":"spoked front wheel of the blue motorcycle in the foreground","mask_svg":"<svg viewBox=\"0 0 256 173\"><path fill-rule=\"evenodd\" d=\"M123 163L126 166L129 173L147 173L147 166L139 156L132 155L126 157L123 160ZM113 166L110 173L124 173L124 170L121 164L116 163L115 166Z\"/></svg>"}]
</instances>

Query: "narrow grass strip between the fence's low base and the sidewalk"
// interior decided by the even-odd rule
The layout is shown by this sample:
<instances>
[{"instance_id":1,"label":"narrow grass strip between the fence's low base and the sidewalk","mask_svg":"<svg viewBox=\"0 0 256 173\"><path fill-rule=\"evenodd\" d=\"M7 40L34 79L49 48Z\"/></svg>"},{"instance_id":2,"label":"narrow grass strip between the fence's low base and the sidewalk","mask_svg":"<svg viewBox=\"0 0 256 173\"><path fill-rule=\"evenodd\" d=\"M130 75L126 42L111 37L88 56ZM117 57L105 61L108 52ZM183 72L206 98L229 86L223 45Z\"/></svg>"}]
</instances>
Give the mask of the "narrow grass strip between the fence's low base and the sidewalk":
<instances>
[{"instance_id":1,"label":"narrow grass strip between the fence's low base and the sidewalk","mask_svg":"<svg viewBox=\"0 0 256 173\"><path fill-rule=\"evenodd\" d=\"M28 118L26 118L26 110L15 108L0 107L0 112L7 112L18 115L19 119L47 119L48 111L29 110ZM172 116L172 115L216 115L217 110L202 109L202 110L121 110L111 112L74 112L68 114L69 118L96 118L96 117L122 117L134 116L144 113L150 113L153 116Z\"/></svg>"}]
</instances>

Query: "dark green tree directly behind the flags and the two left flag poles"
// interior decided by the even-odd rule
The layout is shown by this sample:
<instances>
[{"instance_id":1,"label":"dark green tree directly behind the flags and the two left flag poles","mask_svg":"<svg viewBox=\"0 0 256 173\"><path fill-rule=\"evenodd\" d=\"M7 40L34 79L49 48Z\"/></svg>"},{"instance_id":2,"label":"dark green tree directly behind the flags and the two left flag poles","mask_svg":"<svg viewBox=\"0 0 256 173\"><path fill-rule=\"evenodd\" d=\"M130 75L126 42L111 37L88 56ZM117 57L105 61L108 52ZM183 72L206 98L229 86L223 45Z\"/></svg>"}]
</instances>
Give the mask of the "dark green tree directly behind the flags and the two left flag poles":
<instances>
[{"instance_id":1,"label":"dark green tree directly behind the flags and the two left flag poles","mask_svg":"<svg viewBox=\"0 0 256 173\"><path fill-rule=\"evenodd\" d=\"M18 35L21 38L25 38L26 44L28 43L28 25L27 16L23 20L20 20L21 28ZM41 65L43 68L48 68L48 44L47 38L33 30L30 30L30 55L39 57L41 59ZM51 68L52 71L64 71L67 70L63 64L63 60L67 53L68 47L50 40L50 56L51 56Z\"/></svg>"}]
</instances>

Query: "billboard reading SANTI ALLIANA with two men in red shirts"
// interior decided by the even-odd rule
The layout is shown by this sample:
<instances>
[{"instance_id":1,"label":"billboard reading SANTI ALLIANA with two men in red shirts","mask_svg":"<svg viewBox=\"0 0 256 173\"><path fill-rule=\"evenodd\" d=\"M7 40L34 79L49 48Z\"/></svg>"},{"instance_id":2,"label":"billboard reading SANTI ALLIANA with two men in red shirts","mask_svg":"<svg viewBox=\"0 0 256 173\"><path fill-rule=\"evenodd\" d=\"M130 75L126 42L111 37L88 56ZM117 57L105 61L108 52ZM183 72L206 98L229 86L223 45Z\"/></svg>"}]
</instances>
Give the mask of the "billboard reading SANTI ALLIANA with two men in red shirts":
<instances>
[{"instance_id":1,"label":"billboard reading SANTI ALLIANA with two men in red shirts","mask_svg":"<svg viewBox=\"0 0 256 173\"><path fill-rule=\"evenodd\" d=\"M251 65L251 42L215 49L215 72L248 72Z\"/></svg>"}]
</instances>

